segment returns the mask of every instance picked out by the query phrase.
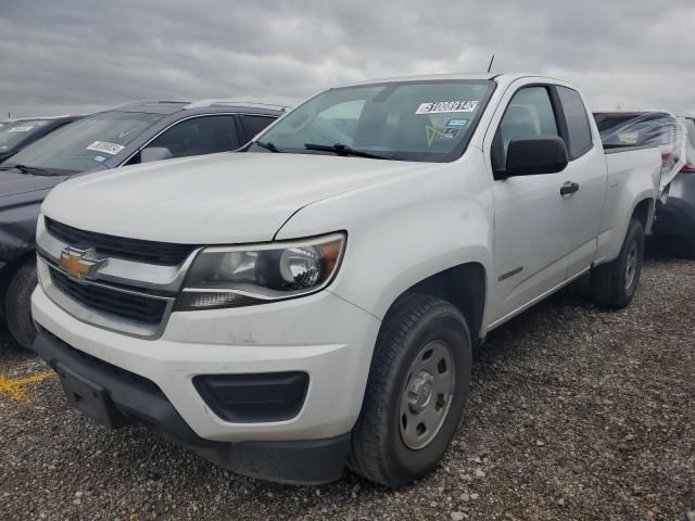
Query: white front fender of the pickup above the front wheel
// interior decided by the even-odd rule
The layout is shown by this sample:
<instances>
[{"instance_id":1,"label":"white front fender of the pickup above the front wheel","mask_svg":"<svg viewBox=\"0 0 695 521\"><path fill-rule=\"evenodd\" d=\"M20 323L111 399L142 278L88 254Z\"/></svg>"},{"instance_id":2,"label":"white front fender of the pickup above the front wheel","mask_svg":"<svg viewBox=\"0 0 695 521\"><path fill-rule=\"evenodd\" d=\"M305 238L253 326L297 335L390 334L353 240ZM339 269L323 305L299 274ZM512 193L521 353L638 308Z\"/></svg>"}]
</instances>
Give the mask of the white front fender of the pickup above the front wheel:
<instances>
[{"instance_id":1,"label":"white front fender of the pickup above the front wheel","mask_svg":"<svg viewBox=\"0 0 695 521\"><path fill-rule=\"evenodd\" d=\"M490 288L493 223L482 154L469 149L457 162L424 163L415 174L311 204L276 237L346 230L329 291L381 320L403 292L460 264L482 265Z\"/></svg>"}]
</instances>

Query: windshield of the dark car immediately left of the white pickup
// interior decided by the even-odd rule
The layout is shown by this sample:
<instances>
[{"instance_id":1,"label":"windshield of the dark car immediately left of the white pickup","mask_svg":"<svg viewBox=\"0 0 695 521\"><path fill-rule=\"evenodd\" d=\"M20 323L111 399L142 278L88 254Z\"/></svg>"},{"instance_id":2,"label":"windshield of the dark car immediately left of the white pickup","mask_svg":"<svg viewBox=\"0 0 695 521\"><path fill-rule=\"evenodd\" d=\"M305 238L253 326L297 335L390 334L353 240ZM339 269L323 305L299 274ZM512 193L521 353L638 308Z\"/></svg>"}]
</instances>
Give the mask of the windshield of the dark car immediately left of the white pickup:
<instances>
[{"instance_id":1,"label":"windshield of the dark car immediately left of the white pickup","mask_svg":"<svg viewBox=\"0 0 695 521\"><path fill-rule=\"evenodd\" d=\"M121 152L164 117L137 112L102 112L60 128L5 161L54 174L91 170Z\"/></svg>"}]
</instances>

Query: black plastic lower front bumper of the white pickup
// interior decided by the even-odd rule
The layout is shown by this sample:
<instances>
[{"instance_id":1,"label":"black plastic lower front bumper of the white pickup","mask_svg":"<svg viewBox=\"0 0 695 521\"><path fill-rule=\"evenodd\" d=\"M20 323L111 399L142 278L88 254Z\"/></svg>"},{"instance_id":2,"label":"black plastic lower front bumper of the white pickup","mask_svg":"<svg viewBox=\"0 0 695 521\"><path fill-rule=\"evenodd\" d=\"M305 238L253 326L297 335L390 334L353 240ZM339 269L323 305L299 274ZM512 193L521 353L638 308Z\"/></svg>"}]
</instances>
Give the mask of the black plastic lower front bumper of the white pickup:
<instances>
[{"instance_id":1,"label":"black plastic lower front bumper of the white pickup","mask_svg":"<svg viewBox=\"0 0 695 521\"><path fill-rule=\"evenodd\" d=\"M39 333L34 350L61 377L68 401L105 427L142 423L238 473L282 483L318 484L340 478L350 434L299 442L211 442L198 436L149 380Z\"/></svg>"}]
</instances>

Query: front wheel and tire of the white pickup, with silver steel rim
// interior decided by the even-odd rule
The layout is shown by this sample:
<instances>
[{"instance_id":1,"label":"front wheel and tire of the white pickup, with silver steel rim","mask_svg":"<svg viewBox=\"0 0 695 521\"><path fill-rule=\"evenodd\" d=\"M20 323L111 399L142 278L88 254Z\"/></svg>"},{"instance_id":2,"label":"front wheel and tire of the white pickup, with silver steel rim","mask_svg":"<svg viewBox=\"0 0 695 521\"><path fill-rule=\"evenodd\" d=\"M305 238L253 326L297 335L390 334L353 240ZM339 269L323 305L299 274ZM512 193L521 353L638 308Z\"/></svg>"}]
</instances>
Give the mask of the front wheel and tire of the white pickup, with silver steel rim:
<instances>
[{"instance_id":1,"label":"front wheel and tire of the white pickup, with silver steel rim","mask_svg":"<svg viewBox=\"0 0 695 521\"><path fill-rule=\"evenodd\" d=\"M433 354L427 356L432 347ZM441 356L446 353L448 361L442 372ZM425 361L424 361L425 360ZM439 365L435 365L439 360ZM404 399L406 389L413 390L427 380L422 372L412 374L416 365L432 365L439 372L433 380L433 392L408 394L412 404ZM451 367L448 367L451 366ZM405 485L432 470L444 455L451 442L470 384L471 339L466 319L456 307L440 298L409 293L393 305L381 326L377 339L362 411L352 432L349 467L367 480L397 487ZM451 392L438 394L438 381L453 373ZM443 376L444 374L444 376ZM408 378L409 377L409 378ZM440 382L440 383L441 383ZM407 387L406 387L407 384ZM424 390L425 383L418 389ZM426 395L425 410L419 414L410 407L420 407ZM422 398L422 401L420 401ZM435 399L435 402L432 402ZM417 402L417 403L415 403ZM403 411L403 407L407 410ZM439 407L439 409L438 409ZM418 423L427 414L438 418L438 427L427 427L420 434ZM404 423L403 416L407 420ZM439 415L439 416L437 416ZM406 429L407 424L407 429ZM428 423L429 425L429 423ZM419 437L414 437L417 435ZM409 437L408 437L409 436ZM406 444L408 440L410 446ZM427 441L425 446L415 444Z\"/></svg>"}]
</instances>

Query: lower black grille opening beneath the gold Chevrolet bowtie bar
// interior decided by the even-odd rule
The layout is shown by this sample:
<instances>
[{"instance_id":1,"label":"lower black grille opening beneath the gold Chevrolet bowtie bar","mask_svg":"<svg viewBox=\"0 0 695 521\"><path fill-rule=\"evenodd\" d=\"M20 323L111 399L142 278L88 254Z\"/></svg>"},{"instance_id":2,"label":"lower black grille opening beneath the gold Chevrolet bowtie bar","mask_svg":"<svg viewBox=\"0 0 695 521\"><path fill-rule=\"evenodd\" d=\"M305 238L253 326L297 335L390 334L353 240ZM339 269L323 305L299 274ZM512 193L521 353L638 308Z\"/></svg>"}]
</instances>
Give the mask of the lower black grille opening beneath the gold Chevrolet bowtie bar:
<instances>
[{"instance_id":1,"label":"lower black grille opening beneath the gold Chevrolet bowtie bar","mask_svg":"<svg viewBox=\"0 0 695 521\"><path fill-rule=\"evenodd\" d=\"M90 309L148 325L159 325L164 318L166 301L81 284L56 269L51 269L51 280L59 290Z\"/></svg>"}]
</instances>

